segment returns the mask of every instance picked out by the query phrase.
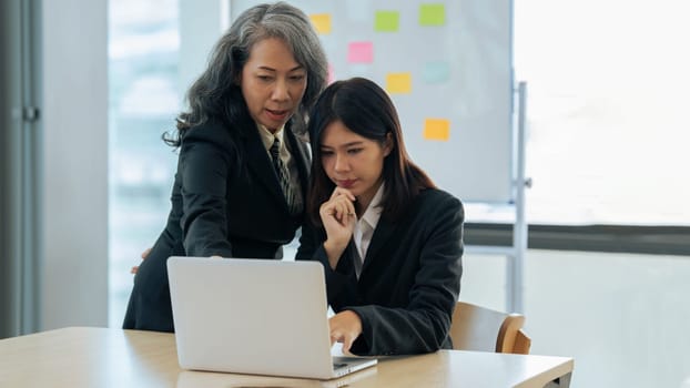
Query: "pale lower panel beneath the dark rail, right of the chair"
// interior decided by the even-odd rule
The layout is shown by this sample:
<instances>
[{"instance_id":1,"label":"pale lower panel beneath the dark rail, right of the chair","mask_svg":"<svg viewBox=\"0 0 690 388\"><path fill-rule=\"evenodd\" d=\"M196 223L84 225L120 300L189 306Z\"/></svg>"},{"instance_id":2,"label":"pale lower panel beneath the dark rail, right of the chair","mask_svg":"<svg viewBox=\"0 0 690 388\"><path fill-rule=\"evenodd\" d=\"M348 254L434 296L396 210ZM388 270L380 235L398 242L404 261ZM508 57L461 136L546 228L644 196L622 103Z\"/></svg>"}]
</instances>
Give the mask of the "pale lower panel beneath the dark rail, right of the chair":
<instances>
[{"instance_id":1,"label":"pale lower panel beneath the dark rail, right of the chair","mask_svg":"<svg viewBox=\"0 0 690 388\"><path fill-rule=\"evenodd\" d=\"M572 388L690 387L687 257L532 249L525 263L530 353L574 357Z\"/></svg>"}]
</instances>

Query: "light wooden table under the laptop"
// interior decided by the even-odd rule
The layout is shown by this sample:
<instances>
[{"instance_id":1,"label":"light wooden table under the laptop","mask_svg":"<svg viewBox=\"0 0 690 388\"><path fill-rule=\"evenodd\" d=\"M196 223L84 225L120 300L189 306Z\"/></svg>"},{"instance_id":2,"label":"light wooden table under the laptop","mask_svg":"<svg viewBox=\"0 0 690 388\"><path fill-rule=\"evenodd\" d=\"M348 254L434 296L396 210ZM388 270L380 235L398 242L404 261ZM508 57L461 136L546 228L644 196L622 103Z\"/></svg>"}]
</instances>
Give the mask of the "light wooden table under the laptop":
<instances>
[{"instance_id":1,"label":"light wooden table under the laptop","mask_svg":"<svg viewBox=\"0 0 690 388\"><path fill-rule=\"evenodd\" d=\"M328 381L182 370L172 334L70 327L0 340L0 387L545 387L567 357L442 350Z\"/></svg>"}]
</instances>

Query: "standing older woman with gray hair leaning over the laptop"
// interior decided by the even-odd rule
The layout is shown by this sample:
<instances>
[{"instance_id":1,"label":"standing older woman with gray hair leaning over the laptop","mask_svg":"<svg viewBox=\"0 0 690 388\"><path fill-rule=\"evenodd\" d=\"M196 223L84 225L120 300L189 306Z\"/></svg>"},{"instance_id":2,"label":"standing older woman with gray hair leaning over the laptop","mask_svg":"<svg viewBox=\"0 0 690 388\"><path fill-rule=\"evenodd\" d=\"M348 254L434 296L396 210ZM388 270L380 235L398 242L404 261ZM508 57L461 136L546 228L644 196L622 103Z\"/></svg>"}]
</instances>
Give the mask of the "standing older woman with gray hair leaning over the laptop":
<instances>
[{"instance_id":1,"label":"standing older woman with gray hair leaning over the laptop","mask_svg":"<svg viewBox=\"0 0 690 388\"><path fill-rule=\"evenodd\" d=\"M310 19L284 2L250 8L221 37L163 136L179 149L172 210L134 270L123 328L174 331L170 256L282 257L304 218L305 112L326 69Z\"/></svg>"}]
</instances>

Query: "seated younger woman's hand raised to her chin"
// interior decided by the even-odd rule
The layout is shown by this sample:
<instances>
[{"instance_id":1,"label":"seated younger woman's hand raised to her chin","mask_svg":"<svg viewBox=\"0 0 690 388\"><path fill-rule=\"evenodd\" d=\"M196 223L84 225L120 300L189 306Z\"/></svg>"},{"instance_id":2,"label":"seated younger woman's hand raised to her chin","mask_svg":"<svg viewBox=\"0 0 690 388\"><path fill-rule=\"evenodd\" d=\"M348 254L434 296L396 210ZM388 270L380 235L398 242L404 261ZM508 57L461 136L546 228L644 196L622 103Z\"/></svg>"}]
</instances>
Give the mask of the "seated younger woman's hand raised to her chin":
<instances>
[{"instance_id":1,"label":"seated younger woman's hand raised to her chin","mask_svg":"<svg viewBox=\"0 0 690 388\"><path fill-rule=\"evenodd\" d=\"M337 266L337 262L355 229L357 223L355 201L356 198L349 190L335 187L331 198L324 202L318 211L321 222L326 229L324 248L332 268Z\"/></svg>"}]
</instances>

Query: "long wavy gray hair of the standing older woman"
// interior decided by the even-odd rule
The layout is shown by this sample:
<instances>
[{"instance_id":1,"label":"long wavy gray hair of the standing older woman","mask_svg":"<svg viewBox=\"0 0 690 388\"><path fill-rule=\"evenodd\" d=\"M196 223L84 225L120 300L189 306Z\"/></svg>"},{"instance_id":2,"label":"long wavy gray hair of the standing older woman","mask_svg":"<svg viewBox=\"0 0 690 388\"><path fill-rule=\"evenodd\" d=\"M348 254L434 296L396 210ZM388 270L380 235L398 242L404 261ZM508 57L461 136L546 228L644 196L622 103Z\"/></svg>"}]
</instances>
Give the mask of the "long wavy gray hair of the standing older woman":
<instances>
[{"instance_id":1,"label":"long wavy gray hair of the standing older woman","mask_svg":"<svg viewBox=\"0 0 690 388\"><path fill-rule=\"evenodd\" d=\"M292 125L293 131L305 133L307 111L326 86L326 54L310 18L281 1L242 12L216 42L209 65L186 93L189 111L177 116L177 135L166 139L169 144L179 146L184 131L212 118L232 124L246 112L237 80L254 44L267 38L283 40L297 63L306 69L307 86Z\"/></svg>"}]
</instances>

